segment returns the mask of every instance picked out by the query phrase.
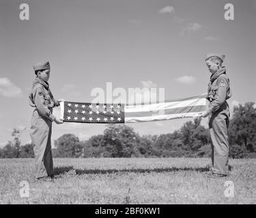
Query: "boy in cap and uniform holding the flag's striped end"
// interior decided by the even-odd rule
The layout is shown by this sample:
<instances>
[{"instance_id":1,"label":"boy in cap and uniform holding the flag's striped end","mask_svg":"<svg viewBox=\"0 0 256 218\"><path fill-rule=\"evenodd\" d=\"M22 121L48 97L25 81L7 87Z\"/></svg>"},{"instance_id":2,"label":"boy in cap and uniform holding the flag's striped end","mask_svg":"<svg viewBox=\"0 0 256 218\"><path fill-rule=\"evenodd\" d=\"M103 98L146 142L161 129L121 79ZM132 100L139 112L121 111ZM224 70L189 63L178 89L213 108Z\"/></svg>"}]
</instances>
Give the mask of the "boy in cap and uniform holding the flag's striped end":
<instances>
[{"instance_id":1,"label":"boy in cap and uniform holding the flag's striped end","mask_svg":"<svg viewBox=\"0 0 256 218\"><path fill-rule=\"evenodd\" d=\"M210 102L206 112L199 116L209 116L210 138L212 140L212 173L210 178L229 175L229 142L227 128L229 126L229 105L227 99L231 97L229 78L225 67L222 67L225 55L205 55L206 65L212 74L208 84L206 99Z\"/></svg>"}]
</instances>

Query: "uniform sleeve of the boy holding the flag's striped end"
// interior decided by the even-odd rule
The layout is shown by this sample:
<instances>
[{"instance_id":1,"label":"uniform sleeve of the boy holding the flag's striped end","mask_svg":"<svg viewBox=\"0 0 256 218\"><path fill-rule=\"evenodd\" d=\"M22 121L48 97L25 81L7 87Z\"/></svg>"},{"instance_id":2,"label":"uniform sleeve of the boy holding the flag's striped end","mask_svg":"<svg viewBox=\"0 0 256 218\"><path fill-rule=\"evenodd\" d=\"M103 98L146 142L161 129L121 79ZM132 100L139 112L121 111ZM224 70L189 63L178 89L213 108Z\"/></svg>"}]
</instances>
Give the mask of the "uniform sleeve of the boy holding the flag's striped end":
<instances>
[{"instance_id":1,"label":"uniform sleeve of the boy holding the flag's striped end","mask_svg":"<svg viewBox=\"0 0 256 218\"><path fill-rule=\"evenodd\" d=\"M226 100L227 88L228 88L227 80L225 80L225 78L218 78L217 85L218 85L218 93L217 93L216 99L212 102L212 104L210 104L208 108L208 111L207 111L208 115L218 110Z\"/></svg>"}]
</instances>

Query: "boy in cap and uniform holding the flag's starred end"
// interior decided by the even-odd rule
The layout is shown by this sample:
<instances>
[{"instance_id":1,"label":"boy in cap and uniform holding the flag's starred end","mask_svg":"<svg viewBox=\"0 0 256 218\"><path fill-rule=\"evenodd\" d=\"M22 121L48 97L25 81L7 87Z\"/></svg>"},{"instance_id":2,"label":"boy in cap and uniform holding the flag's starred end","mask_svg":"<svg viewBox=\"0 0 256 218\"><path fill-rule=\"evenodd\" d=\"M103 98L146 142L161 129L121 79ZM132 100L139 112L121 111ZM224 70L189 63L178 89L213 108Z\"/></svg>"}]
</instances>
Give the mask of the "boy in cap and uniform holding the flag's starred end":
<instances>
[{"instance_id":1,"label":"boy in cap and uniform holding the flag's starred end","mask_svg":"<svg viewBox=\"0 0 256 218\"><path fill-rule=\"evenodd\" d=\"M62 119L53 115L53 108L59 106L49 89L50 63L42 62L33 65L35 80L29 95L29 104L34 107L31 118L30 136L35 153L35 177L53 179L53 155L51 152L52 122L60 124ZM47 178L50 176L51 178Z\"/></svg>"}]
</instances>

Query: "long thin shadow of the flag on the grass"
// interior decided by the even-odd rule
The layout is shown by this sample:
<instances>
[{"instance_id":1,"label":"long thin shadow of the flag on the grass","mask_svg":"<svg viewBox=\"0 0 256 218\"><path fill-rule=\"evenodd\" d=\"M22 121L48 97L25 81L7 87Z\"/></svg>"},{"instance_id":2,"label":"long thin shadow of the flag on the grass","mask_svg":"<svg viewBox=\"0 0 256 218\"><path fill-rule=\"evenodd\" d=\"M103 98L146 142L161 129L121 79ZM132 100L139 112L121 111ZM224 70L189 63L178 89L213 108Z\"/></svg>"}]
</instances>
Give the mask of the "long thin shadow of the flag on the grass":
<instances>
[{"instance_id":1,"label":"long thin shadow of the flag on the grass","mask_svg":"<svg viewBox=\"0 0 256 218\"><path fill-rule=\"evenodd\" d=\"M153 168L153 169L109 169L109 170L76 170L76 174L111 174L117 172L136 172L136 173L145 173L145 172L183 172L183 171L195 171L195 172L208 172L209 168Z\"/></svg>"}]
</instances>

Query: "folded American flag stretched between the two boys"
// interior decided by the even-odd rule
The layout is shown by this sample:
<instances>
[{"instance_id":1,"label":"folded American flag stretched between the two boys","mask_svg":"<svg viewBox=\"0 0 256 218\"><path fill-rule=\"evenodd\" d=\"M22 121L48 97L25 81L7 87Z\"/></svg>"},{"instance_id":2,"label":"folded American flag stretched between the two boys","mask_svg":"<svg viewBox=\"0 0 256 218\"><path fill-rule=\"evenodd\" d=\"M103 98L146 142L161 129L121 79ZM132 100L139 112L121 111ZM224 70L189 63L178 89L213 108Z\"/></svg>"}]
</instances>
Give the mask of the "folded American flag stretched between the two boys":
<instances>
[{"instance_id":1,"label":"folded American flag stretched between the two boys","mask_svg":"<svg viewBox=\"0 0 256 218\"><path fill-rule=\"evenodd\" d=\"M155 104L61 102L61 118L75 123L137 123L193 117L206 110L204 95Z\"/></svg>"}]
</instances>

